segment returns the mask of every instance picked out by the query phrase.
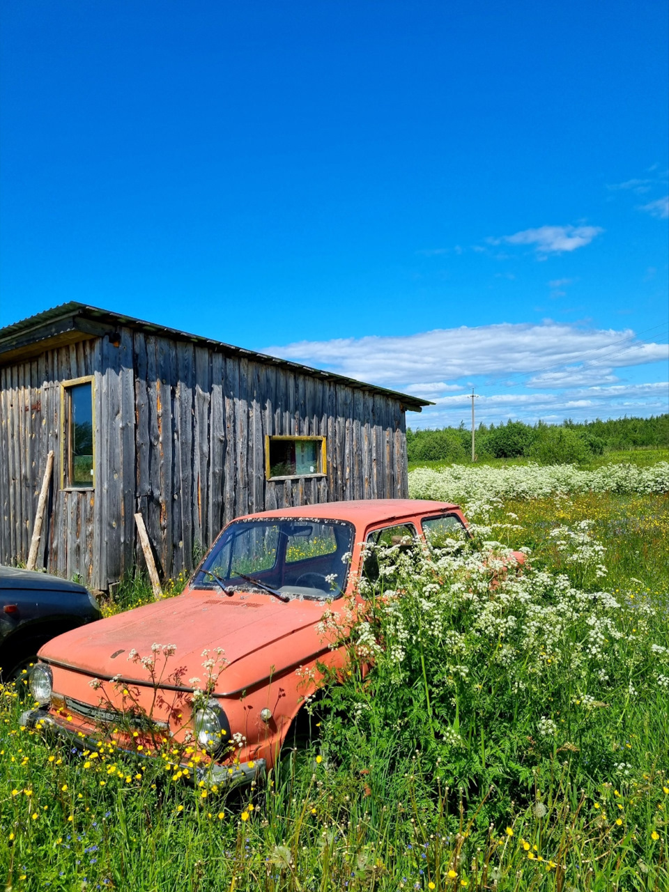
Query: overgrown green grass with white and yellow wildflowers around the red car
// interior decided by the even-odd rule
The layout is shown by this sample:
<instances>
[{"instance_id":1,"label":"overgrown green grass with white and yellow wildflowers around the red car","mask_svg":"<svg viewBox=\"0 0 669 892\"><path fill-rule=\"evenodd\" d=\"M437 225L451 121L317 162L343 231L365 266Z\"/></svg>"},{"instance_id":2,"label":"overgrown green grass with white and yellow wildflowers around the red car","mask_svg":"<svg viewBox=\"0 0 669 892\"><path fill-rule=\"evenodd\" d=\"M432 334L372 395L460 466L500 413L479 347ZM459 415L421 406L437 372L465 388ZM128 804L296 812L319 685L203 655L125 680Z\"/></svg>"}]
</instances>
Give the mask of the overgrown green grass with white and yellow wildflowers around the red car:
<instances>
[{"instance_id":1,"label":"overgrown green grass with white and yellow wildflowers around the red car","mask_svg":"<svg viewBox=\"0 0 669 892\"><path fill-rule=\"evenodd\" d=\"M253 789L77 755L22 730L4 690L6 887L669 888L668 533L665 497L585 493L493 507L436 575L391 551L351 641L373 670L354 661L314 701L310 751ZM533 568L505 574L493 539Z\"/></svg>"}]
</instances>

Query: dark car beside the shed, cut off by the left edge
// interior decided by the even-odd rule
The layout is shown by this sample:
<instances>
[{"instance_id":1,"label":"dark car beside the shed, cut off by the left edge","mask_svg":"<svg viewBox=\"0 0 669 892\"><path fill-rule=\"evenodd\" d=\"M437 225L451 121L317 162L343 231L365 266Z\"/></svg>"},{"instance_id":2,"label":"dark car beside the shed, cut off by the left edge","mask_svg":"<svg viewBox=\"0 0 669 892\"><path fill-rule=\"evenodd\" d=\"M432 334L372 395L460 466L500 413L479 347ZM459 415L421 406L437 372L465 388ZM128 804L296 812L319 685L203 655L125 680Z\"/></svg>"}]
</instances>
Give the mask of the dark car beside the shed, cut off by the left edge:
<instances>
[{"instance_id":1,"label":"dark car beside the shed, cut off by the left edge","mask_svg":"<svg viewBox=\"0 0 669 892\"><path fill-rule=\"evenodd\" d=\"M100 619L93 595L77 582L0 566L0 672L16 678L46 641Z\"/></svg>"}]
</instances>

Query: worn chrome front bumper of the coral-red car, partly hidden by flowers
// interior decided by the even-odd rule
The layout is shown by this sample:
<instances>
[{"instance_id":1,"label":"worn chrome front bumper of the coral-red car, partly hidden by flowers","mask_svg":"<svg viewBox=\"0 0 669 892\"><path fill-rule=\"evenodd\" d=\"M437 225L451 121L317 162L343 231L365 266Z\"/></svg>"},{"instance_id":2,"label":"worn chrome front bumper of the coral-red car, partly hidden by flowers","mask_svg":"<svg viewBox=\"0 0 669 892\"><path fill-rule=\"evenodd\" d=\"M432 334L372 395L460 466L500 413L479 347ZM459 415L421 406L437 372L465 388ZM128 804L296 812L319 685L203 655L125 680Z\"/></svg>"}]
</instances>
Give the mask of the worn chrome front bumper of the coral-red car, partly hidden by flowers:
<instances>
[{"instance_id":1,"label":"worn chrome front bumper of the coral-red car, partly hidden by flowers","mask_svg":"<svg viewBox=\"0 0 669 892\"><path fill-rule=\"evenodd\" d=\"M67 740L73 747L80 750L95 748L98 744L98 740L95 738L79 737L78 731L70 731L69 728L63 728L62 724L56 722L45 709L29 709L21 713L19 722L26 728L32 729L39 724L40 730ZM134 750L123 749L122 747L116 747L115 752L123 756L131 756L134 759L157 761L154 756L145 756L143 753L137 753ZM243 787L250 784L252 780L258 780L265 774L266 762L265 759L253 759L252 763L240 762L232 769L227 765L219 765L215 762L198 768L190 768L186 763L181 763L179 768L187 768L189 773L186 775L186 780L190 779L197 784L203 780L207 787L212 787L216 784L219 787L229 789L231 787Z\"/></svg>"}]
</instances>

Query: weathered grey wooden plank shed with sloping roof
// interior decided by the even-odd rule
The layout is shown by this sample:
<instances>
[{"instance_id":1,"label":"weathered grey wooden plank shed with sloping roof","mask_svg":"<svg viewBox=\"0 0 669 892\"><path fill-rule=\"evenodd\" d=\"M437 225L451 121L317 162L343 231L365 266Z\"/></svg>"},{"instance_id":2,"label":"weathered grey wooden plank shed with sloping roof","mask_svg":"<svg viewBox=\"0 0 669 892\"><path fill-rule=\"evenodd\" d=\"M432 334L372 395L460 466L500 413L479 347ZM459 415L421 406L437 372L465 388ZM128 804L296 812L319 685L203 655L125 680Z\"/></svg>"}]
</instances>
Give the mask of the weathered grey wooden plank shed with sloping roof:
<instances>
[{"instance_id":1,"label":"weathered grey wooden plank shed with sloping roof","mask_svg":"<svg viewBox=\"0 0 669 892\"><path fill-rule=\"evenodd\" d=\"M0 563L106 590L143 558L190 570L232 517L407 496L424 400L80 303L0 329Z\"/></svg>"}]
</instances>

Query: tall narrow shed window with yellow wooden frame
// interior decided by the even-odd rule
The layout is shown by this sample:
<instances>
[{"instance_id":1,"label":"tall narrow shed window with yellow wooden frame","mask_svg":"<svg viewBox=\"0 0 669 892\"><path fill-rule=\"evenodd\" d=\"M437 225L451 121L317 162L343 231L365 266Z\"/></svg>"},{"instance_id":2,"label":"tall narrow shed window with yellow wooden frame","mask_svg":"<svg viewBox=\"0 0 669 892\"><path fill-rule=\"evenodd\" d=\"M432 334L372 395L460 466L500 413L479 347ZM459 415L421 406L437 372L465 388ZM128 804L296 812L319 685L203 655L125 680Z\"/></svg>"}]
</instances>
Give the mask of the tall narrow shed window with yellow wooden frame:
<instances>
[{"instance_id":1,"label":"tall narrow shed window with yellow wooden frame","mask_svg":"<svg viewBox=\"0 0 669 892\"><path fill-rule=\"evenodd\" d=\"M92 489L93 380L62 385L62 485L64 489Z\"/></svg>"}]
</instances>

